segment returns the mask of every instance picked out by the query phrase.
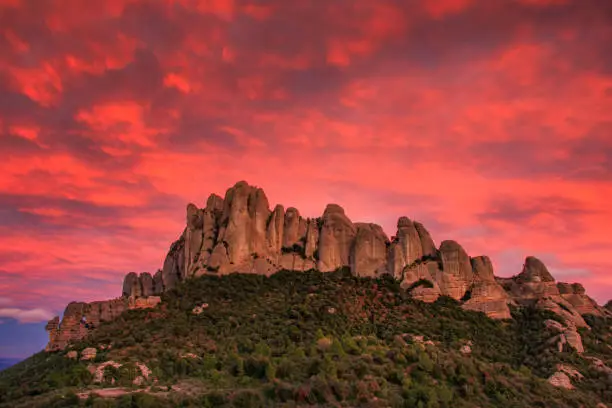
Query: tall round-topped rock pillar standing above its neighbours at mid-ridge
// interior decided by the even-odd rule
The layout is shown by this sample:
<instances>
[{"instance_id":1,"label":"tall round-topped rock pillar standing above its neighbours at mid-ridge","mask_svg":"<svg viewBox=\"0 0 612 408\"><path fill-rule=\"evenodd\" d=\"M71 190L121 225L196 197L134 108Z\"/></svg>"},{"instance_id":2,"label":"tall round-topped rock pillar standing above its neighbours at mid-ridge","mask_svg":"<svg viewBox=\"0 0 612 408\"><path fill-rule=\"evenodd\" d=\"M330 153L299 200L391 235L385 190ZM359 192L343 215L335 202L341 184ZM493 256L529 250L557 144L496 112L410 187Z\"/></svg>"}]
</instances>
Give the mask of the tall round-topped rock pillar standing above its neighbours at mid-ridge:
<instances>
[{"instance_id":1,"label":"tall round-topped rock pillar standing above its neighbours at mid-ridge","mask_svg":"<svg viewBox=\"0 0 612 408\"><path fill-rule=\"evenodd\" d=\"M319 235L319 261L321 272L331 272L349 266L349 255L357 231L344 209L328 204L323 213L323 225Z\"/></svg>"}]
</instances>

